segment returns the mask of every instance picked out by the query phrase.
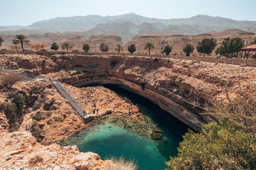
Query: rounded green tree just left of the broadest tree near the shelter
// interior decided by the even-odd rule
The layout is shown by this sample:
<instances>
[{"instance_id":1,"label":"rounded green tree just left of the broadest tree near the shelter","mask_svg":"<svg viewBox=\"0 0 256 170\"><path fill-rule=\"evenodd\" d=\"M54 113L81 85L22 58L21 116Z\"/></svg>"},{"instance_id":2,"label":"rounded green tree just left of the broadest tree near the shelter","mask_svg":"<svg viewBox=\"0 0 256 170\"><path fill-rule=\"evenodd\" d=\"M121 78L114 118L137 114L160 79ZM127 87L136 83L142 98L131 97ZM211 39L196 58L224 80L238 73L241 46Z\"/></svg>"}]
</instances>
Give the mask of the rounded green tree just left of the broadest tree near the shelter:
<instances>
[{"instance_id":1,"label":"rounded green tree just left of the broadest tree near the shelter","mask_svg":"<svg viewBox=\"0 0 256 170\"><path fill-rule=\"evenodd\" d=\"M212 38L204 38L202 42L198 42L198 46L196 46L196 49L198 52L200 52L200 54L203 53L205 56L205 54L210 55L212 51L215 49L216 45L216 40Z\"/></svg>"}]
</instances>

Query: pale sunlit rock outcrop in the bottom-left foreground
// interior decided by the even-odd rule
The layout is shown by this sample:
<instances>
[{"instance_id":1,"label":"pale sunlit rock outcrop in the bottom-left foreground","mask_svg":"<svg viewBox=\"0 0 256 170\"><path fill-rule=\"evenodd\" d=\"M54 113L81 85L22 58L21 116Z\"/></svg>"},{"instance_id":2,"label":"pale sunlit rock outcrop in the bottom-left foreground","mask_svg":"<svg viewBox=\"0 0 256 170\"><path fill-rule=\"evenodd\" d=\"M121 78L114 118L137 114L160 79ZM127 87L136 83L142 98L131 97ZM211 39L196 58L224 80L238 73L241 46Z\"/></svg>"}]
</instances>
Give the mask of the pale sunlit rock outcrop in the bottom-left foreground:
<instances>
[{"instance_id":1,"label":"pale sunlit rock outcrop in the bottom-left foreground","mask_svg":"<svg viewBox=\"0 0 256 170\"><path fill-rule=\"evenodd\" d=\"M76 146L43 146L30 132L3 132L0 138L0 169L100 169L99 155L81 153Z\"/></svg>"}]
</instances>

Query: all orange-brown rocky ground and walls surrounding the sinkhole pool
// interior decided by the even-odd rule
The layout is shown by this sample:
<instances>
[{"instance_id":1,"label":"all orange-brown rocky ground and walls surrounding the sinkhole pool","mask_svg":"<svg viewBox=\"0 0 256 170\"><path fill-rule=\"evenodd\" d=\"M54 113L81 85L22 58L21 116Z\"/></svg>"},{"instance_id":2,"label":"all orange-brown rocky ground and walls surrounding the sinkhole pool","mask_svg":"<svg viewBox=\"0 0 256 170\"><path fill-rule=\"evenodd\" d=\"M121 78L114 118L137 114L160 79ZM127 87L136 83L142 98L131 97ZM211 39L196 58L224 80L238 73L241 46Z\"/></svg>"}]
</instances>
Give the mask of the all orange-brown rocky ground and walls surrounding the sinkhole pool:
<instances>
[{"instance_id":1,"label":"all orange-brown rocky ground and walls surrounding the sinkhole pool","mask_svg":"<svg viewBox=\"0 0 256 170\"><path fill-rule=\"evenodd\" d=\"M225 98L225 89L228 89L229 97L235 97L240 83L243 91L256 95L253 86L256 68L250 66L173 58L154 61L148 56L111 54L3 54L0 62L14 70L59 79L87 111L92 112L94 105L99 112L111 109L111 116L129 118L134 130L143 126L140 125L143 115L136 105L102 86L81 87L119 84L148 98L197 132L204 123L214 120L212 116L200 114L202 107L211 105L215 99ZM141 80L145 82L144 90L141 89ZM83 123L51 82L21 81L10 89L0 90L0 129L3 136L0 139L0 168L104 169L113 165L111 160L102 161L95 153L80 153L76 146L58 145L90 123ZM18 118L17 123L10 125L4 112L15 93L25 97L26 113ZM92 123L97 121L100 118Z\"/></svg>"}]
</instances>

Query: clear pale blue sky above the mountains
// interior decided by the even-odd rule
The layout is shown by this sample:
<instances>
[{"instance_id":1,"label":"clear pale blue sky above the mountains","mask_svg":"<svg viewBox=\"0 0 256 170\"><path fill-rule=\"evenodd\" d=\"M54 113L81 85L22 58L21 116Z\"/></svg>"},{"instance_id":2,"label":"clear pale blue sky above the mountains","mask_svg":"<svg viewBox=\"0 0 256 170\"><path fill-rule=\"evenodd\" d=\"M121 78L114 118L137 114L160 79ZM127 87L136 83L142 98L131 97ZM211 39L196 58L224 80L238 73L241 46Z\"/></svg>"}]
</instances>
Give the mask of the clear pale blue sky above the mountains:
<instances>
[{"instance_id":1,"label":"clear pale blue sky above the mountains","mask_svg":"<svg viewBox=\"0 0 256 170\"><path fill-rule=\"evenodd\" d=\"M256 0L0 0L0 26L27 26L54 17L132 12L159 19L205 14L256 20Z\"/></svg>"}]
</instances>

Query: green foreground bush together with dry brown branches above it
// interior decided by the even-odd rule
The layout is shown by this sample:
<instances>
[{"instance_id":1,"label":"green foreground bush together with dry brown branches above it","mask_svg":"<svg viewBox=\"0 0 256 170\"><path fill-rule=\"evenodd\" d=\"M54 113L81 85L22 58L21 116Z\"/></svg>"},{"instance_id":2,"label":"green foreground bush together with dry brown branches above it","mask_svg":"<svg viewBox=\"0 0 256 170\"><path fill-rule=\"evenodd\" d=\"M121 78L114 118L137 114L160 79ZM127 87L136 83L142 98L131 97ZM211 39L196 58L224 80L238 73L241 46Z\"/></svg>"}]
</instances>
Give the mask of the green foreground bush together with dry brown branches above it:
<instances>
[{"instance_id":1,"label":"green foreground bush together with dry brown branches above it","mask_svg":"<svg viewBox=\"0 0 256 170\"><path fill-rule=\"evenodd\" d=\"M183 136L178 156L166 162L171 169L255 169L256 98L239 86L236 97L226 91L227 98L206 108L218 123Z\"/></svg>"}]
</instances>

